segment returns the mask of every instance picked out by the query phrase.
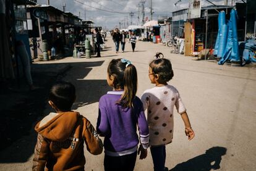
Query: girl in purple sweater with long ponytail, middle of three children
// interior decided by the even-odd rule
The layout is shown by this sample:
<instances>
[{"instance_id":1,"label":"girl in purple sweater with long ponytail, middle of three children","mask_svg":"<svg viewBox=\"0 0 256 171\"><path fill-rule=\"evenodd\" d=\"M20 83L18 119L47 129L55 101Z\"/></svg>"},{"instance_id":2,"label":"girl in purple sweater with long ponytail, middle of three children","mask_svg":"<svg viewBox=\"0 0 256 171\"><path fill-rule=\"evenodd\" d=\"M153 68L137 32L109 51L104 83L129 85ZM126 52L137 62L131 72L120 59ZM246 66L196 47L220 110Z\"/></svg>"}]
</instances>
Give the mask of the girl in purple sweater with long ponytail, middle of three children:
<instances>
[{"instance_id":1,"label":"girl in purple sweater with long ponytail, middle of three children","mask_svg":"<svg viewBox=\"0 0 256 171\"><path fill-rule=\"evenodd\" d=\"M108 91L100 98L96 129L100 135L105 136L104 168L105 171L132 171L139 139L140 159L147 157L149 134L143 104L135 96L137 70L129 60L113 59L108 65L107 81L113 91Z\"/></svg>"}]
</instances>

